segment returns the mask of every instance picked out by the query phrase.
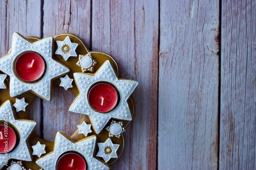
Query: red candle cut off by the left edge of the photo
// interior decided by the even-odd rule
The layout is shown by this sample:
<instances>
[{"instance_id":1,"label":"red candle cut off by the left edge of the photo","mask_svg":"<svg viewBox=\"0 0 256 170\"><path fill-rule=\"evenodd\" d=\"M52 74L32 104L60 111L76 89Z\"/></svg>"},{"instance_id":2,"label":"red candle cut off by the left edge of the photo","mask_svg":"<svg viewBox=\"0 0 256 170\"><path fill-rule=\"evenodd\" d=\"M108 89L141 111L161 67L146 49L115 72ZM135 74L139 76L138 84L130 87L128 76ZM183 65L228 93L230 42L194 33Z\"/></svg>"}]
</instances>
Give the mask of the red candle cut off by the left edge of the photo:
<instances>
[{"instance_id":1,"label":"red candle cut off by the left edge of the photo","mask_svg":"<svg viewBox=\"0 0 256 170\"><path fill-rule=\"evenodd\" d=\"M0 125L0 153L12 151L16 144L16 134L12 128Z\"/></svg>"}]
</instances>

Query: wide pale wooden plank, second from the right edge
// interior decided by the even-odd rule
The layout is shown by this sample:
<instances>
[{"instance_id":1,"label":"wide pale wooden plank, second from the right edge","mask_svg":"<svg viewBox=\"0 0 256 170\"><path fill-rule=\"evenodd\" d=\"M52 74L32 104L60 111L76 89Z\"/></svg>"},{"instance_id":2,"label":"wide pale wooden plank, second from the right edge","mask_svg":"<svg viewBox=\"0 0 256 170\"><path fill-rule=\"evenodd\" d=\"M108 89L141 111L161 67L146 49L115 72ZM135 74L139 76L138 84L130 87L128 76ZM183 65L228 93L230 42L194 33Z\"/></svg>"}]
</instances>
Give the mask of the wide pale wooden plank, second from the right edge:
<instances>
[{"instance_id":1,"label":"wide pale wooden plank, second from the right edge","mask_svg":"<svg viewBox=\"0 0 256 170\"><path fill-rule=\"evenodd\" d=\"M158 169L218 167L219 1L160 1Z\"/></svg>"}]
</instances>

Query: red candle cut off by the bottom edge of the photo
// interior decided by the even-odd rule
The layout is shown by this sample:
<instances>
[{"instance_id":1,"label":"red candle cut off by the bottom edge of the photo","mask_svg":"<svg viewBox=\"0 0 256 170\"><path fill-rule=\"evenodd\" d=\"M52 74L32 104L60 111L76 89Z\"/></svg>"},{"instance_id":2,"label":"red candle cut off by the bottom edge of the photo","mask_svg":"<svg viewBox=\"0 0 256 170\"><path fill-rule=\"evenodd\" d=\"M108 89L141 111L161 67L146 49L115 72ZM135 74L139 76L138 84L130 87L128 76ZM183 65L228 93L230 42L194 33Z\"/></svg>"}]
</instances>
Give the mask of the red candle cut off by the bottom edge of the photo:
<instances>
[{"instance_id":1,"label":"red candle cut off by the bottom edge of the photo","mask_svg":"<svg viewBox=\"0 0 256 170\"><path fill-rule=\"evenodd\" d=\"M57 170L86 170L86 161L79 154L70 152L57 161Z\"/></svg>"}]
</instances>

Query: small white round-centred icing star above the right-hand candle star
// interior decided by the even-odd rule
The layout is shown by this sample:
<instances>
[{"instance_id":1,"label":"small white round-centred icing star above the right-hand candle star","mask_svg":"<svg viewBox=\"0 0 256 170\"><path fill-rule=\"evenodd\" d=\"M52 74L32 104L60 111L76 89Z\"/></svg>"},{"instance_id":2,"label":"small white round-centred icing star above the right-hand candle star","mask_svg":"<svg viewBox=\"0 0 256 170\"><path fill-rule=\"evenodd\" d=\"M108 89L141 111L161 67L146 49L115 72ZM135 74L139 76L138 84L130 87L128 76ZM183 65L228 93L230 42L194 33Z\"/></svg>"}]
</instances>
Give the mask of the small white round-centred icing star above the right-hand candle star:
<instances>
[{"instance_id":1,"label":"small white round-centred icing star above the right-hand candle star","mask_svg":"<svg viewBox=\"0 0 256 170\"><path fill-rule=\"evenodd\" d=\"M87 55L79 55L79 60L76 63L76 65L78 65L81 68L82 72L93 72L94 66L96 64L97 62L93 59L91 53L88 53Z\"/></svg>"}]
</instances>

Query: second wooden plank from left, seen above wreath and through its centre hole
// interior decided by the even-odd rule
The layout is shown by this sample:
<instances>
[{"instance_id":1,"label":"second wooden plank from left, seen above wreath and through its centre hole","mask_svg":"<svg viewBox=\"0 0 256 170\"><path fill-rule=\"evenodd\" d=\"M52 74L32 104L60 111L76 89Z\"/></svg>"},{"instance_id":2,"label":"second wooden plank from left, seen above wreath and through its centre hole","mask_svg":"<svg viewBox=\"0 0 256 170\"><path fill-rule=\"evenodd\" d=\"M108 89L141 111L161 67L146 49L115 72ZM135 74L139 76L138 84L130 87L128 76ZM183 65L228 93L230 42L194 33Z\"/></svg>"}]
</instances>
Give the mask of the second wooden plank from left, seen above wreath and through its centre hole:
<instances>
[{"instance_id":1,"label":"second wooden plank from left, seen above wreath and through its centre hole","mask_svg":"<svg viewBox=\"0 0 256 170\"><path fill-rule=\"evenodd\" d=\"M77 34L90 44L90 1L44 1L44 37L63 32ZM76 129L80 114L69 112L74 96L62 87L53 89L51 102L44 101L44 138L54 141L57 131L68 135Z\"/></svg>"}]
</instances>

